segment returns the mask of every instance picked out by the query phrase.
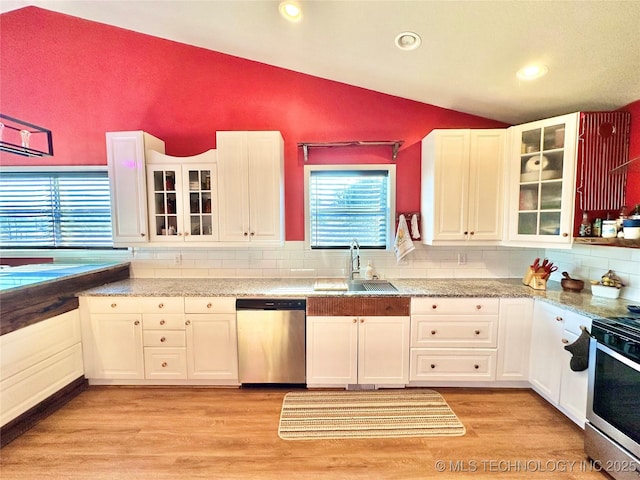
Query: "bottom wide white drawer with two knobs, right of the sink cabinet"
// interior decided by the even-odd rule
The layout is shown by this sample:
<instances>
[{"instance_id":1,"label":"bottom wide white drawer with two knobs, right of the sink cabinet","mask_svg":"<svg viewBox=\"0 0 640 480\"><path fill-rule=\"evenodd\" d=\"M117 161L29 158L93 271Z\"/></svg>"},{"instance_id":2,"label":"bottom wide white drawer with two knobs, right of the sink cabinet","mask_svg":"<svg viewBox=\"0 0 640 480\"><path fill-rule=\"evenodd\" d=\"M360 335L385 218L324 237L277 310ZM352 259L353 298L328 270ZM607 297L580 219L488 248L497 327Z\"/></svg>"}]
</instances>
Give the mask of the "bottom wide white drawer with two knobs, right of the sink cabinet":
<instances>
[{"instance_id":1,"label":"bottom wide white drawer with two knobs, right of the sink cabinet","mask_svg":"<svg viewBox=\"0 0 640 480\"><path fill-rule=\"evenodd\" d=\"M411 349L410 381L488 381L495 377L495 350Z\"/></svg>"}]
</instances>

